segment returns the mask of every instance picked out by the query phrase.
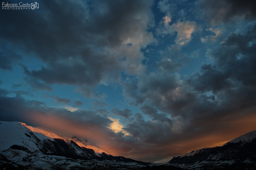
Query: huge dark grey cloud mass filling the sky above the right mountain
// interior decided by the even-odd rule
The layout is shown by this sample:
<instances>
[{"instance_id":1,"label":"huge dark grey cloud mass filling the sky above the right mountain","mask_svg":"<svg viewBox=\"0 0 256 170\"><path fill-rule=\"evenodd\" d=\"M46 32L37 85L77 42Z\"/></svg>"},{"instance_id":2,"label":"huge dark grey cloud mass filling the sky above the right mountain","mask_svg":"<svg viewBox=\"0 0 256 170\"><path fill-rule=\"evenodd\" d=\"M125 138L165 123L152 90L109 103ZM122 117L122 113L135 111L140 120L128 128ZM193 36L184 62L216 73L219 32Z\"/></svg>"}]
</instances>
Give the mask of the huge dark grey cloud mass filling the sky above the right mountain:
<instances>
[{"instance_id":1,"label":"huge dark grey cloud mass filling the sky above the right mountain","mask_svg":"<svg viewBox=\"0 0 256 170\"><path fill-rule=\"evenodd\" d=\"M206 54L212 64L202 65L201 71L187 80L180 81L178 74L159 70L145 77L126 79L124 95L142 111L125 128L134 142L141 141L143 146L149 144L152 148L154 144L171 147L170 143L174 146L178 141L187 141L196 149L194 142L201 143L201 139L206 144L211 136L222 138L223 129L227 134L227 129L256 128L250 123L246 125L255 117L255 28L249 26L243 34L231 33L218 48ZM145 120L145 116L150 119ZM162 149L158 147L158 152Z\"/></svg>"}]
</instances>

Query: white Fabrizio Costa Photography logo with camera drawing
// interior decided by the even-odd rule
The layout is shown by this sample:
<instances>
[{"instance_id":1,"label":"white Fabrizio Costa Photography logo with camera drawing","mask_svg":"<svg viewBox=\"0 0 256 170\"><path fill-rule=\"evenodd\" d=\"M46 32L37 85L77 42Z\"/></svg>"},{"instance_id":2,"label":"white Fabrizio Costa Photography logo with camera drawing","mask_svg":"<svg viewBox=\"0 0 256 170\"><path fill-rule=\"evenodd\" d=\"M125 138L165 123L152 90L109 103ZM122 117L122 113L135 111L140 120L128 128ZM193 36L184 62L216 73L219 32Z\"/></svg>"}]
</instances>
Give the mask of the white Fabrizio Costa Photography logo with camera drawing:
<instances>
[{"instance_id":1,"label":"white Fabrizio Costa Photography logo with camera drawing","mask_svg":"<svg viewBox=\"0 0 256 170\"><path fill-rule=\"evenodd\" d=\"M28 3L2 3L2 9L36 9L39 8L39 4L37 2L34 2L32 4L28 4Z\"/></svg>"}]
</instances>

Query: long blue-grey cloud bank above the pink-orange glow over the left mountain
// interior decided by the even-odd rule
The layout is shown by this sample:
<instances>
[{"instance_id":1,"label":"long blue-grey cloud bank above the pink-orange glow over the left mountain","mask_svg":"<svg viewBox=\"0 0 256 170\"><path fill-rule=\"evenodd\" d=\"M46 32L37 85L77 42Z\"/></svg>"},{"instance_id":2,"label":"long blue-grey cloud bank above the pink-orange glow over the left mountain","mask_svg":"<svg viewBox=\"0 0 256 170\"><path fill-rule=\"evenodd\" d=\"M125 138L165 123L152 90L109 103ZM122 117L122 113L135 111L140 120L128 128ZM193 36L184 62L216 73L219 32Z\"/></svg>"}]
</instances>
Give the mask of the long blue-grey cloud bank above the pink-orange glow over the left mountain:
<instances>
[{"instance_id":1,"label":"long blue-grey cloud bank above the pink-orange glow over the left mountain","mask_svg":"<svg viewBox=\"0 0 256 170\"><path fill-rule=\"evenodd\" d=\"M55 98L56 96L53 97ZM56 99L61 101L63 100L58 97ZM47 119L48 117L49 119L49 116L60 116L62 118L79 121L83 124L99 125L106 129L111 123L111 120L106 118L106 115L108 115L106 110L78 110L70 112L62 108L47 107L44 102L36 100L27 101L20 96L12 98L0 96L0 101L0 119L7 122L18 121L35 125L35 122L40 122L40 117L43 117L44 119Z\"/></svg>"}]
</instances>

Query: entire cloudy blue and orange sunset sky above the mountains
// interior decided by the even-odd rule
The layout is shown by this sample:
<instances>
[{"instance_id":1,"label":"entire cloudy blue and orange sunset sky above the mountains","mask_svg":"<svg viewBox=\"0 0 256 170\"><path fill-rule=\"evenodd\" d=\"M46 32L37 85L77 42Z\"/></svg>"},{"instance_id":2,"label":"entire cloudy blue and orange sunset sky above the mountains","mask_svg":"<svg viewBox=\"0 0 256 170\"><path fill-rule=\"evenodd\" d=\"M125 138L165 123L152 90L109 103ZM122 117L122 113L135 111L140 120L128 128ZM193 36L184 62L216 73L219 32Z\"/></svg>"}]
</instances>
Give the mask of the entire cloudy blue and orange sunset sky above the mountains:
<instances>
[{"instance_id":1,"label":"entire cloudy blue and orange sunset sky above the mountains","mask_svg":"<svg viewBox=\"0 0 256 170\"><path fill-rule=\"evenodd\" d=\"M256 130L254 0L36 2L1 1L1 121L160 163Z\"/></svg>"}]
</instances>

